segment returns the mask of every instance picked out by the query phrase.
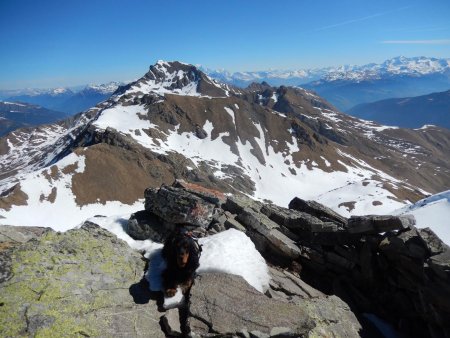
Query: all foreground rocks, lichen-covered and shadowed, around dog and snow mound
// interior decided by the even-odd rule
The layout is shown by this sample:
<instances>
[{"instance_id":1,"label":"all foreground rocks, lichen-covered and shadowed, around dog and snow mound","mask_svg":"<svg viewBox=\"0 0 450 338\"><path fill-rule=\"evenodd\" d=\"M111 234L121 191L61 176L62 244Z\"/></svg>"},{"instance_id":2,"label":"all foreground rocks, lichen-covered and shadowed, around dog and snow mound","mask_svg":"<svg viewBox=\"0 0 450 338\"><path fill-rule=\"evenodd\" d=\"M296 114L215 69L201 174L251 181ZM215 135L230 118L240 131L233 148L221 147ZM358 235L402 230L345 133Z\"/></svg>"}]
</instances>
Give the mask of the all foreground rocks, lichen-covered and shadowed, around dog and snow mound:
<instances>
[{"instance_id":1,"label":"all foreground rocks, lichen-covered and shadowed, around dog and snow mound","mask_svg":"<svg viewBox=\"0 0 450 338\"><path fill-rule=\"evenodd\" d=\"M183 181L145 196L132 237L163 241L177 224L244 231L270 265L267 292L207 273L187 307L164 312L141 255L97 225L2 226L0 336L378 337L376 315L403 336L450 337L450 250L413 218L345 219L312 201L286 209Z\"/></svg>"}]
</instances>

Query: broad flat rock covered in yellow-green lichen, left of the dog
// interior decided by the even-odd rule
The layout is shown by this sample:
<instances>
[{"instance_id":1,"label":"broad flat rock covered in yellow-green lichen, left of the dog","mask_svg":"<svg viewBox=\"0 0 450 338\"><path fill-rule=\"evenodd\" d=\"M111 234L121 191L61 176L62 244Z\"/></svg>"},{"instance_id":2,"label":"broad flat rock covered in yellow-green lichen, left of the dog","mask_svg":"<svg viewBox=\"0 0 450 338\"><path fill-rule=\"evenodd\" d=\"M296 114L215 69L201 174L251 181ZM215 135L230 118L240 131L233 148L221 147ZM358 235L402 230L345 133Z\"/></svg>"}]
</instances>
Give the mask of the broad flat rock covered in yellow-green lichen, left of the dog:
<instances>
[{"instance_id":1,"label":"broad flat rock covered in yellow-green lichen, left of the dog","mask_svg":"<svg viewBox=\"0 0 450 338\"><path fill-rule=\"evenodd\" d=\"M1 337L164 337L156 305L138 305L130 294L144 269L140 255L97 225L45 232L9 259Z\"/></svg>"}]
</instances>

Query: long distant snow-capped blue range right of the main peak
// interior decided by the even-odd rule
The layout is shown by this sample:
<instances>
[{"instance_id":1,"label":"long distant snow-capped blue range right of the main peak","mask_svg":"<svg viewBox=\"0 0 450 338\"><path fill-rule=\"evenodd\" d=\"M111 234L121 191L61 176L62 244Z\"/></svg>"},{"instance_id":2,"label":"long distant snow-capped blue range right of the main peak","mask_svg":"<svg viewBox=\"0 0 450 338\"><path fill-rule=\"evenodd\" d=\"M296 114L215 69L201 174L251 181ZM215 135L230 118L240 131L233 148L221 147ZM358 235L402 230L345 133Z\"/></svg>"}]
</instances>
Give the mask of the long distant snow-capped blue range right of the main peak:
<instances>
[{"instance_id":1,"label":"long distant snow-capped blue range right of the main peak","mask_svg":"<svg viewBox=\"0 0 450 338\"><path fill-rule=\"evenodd\" d=\"M315 91L343 111L360 103L425 95L450 88L450 59L429 57L399 56L381 64L291 71L205 71L213 78L241 87L262 81L277 86L301 86Z\"/></svg>"}]
</instances>

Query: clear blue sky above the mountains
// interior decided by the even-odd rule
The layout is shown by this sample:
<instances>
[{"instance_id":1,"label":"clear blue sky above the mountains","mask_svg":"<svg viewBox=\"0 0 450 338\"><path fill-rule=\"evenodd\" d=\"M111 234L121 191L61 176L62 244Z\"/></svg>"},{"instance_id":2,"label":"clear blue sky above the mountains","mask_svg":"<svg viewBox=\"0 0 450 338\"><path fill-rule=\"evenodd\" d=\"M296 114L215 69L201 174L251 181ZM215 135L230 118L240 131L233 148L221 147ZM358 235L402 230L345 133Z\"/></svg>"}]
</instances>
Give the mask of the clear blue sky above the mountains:
<instances>
[{"instance_id":1,"label":"clear blue sky above the mountains","mask_svg":"<svg viewBox=\"0 0 450 338\"><path fill-rule=\"evenodd\" d=\"M449 0L0 0L0 89L450 57Z\"/></svg>"}]
</instances>

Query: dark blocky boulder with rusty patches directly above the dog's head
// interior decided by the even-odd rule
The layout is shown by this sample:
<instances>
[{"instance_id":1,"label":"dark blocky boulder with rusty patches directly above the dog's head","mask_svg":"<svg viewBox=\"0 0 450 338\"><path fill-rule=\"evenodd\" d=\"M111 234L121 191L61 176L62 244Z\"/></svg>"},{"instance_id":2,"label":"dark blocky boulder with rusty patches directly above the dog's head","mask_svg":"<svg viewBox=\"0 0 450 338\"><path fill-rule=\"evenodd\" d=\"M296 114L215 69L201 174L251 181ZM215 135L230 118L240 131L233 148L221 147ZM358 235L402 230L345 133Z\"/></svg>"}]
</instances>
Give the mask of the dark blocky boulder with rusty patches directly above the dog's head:
<instances>
[{"instance_id":1,"label":"dark blocky boulder with rusty patches directly above the dog's head","mask_svg":"<svg viewBox=\"0 0 450 338\"><path fill-rule=\"evenodd\" d=\"M214 204L182 188L161 186L145 193L146 210L175 224L190 224L206 228L212 221Z\"/></svg>"}]
</instances>

